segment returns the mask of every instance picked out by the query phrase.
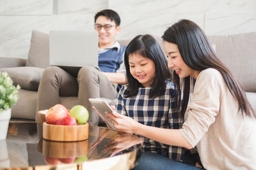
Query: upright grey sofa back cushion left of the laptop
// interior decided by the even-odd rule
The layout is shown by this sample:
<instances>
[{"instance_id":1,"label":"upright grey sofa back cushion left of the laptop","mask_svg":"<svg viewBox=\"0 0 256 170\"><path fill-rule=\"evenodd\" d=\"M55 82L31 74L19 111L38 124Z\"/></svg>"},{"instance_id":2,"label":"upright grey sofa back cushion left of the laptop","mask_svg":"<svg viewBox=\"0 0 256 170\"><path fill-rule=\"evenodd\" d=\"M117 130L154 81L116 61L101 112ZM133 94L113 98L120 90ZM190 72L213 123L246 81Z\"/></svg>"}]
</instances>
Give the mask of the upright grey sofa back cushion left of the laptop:
<instances>
[{"instance_id":1,"label":"upright grey sofa back cushion left of the laptop","mask_svg":"<svg viewBox=\"0 0 256 170\"><path fill-rule=\"evenodd\" d=\"M32 31L26 66L46 68L49 62L49 34Z\"/></svg>"}]
</instances>

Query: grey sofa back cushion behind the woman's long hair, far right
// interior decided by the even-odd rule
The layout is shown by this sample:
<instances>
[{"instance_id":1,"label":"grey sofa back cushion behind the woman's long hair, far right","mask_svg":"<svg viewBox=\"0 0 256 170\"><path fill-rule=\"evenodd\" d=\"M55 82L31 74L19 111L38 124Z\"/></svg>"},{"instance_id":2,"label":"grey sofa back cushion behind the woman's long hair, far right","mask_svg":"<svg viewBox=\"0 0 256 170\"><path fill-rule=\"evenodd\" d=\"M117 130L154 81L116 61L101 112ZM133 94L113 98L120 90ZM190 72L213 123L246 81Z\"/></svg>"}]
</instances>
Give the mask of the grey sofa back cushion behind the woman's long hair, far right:
<instances>
[{"instance_id":1,"label":"grey sofa back cushion behind the woman's long hair, far right","mask_svg":"<svg viewBox=\"0 0 256 170\"><path fill-rule=\"evenodd\" d=\"M220 60L236 76L246 92L256 92L256 32L208 36Z\"/></svg>"}]
</instances>

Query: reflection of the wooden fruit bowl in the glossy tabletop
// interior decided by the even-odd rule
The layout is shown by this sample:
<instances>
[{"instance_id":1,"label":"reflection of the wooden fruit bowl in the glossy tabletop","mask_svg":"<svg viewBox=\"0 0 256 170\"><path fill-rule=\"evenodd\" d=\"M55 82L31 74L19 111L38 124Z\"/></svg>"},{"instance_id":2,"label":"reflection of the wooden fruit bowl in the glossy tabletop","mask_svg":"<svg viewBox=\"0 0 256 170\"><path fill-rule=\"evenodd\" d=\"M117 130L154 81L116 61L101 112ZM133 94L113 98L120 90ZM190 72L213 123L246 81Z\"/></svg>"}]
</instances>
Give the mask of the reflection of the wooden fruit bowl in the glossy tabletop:
<instances>
[{"instance_id":1,"label":"reflection of the wooden fruit bowl in the glossy tabletop","mask_svg":"<svg viewBox=\"0 0 256 170\"><path fill-rule=\"evenodd\" d=\"M47 141L43 139L42 153L53 158L81 157L88 153L88 140L76 142Z\"/></svg>"}]
</instances>

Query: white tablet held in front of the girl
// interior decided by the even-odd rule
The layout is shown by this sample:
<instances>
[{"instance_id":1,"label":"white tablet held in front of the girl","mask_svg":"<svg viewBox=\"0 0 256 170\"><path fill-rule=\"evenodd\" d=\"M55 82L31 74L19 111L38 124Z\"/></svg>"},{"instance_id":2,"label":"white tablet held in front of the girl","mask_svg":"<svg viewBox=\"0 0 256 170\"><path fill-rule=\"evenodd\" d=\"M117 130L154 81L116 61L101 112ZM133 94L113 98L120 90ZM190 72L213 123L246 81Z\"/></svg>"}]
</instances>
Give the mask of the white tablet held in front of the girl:
<instances>
[{"instance_id":1,"label":"white tablet held in front of the girl","mask_svg":"<svg viewBox=\"0 0 256 170\"><path fill-rule=\"evenodd\" d=\"M102 115L102 117L105 118L105 120L108 122L108 124L111 126L111 128L115 129L115 126L112 124L111 121L109 121L108 117L106 117L106 115L105 115L105 111L108 113L113 112L111 106L109 106L109 104L102 99L90 98L89 101L92 104L92 106L94 106L96 108L96 110L99 111L100 115Z\"/></svg>"}]
</instances>

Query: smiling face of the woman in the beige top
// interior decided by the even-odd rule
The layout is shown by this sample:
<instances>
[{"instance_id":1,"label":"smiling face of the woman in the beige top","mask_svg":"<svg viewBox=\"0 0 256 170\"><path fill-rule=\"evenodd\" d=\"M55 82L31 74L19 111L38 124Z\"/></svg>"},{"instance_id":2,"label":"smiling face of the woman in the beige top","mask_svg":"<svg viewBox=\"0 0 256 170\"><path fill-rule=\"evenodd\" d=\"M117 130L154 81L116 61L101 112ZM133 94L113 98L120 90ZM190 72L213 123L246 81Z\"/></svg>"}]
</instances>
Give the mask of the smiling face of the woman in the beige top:
<instances>
[{"instance_id":1,"label":"smiling face of the woman in the beige top","mask_svg":"<svg viewBox=\"0 0 256 170\"><path fill-rule=\"evenodd\" d=\"M200 71L191 69L182 59L178 46L175 43L164 41L164 52L168 57L168 67L175 71L180 78L192 76L197 78Z\"/></svg>"}]
</instances>

